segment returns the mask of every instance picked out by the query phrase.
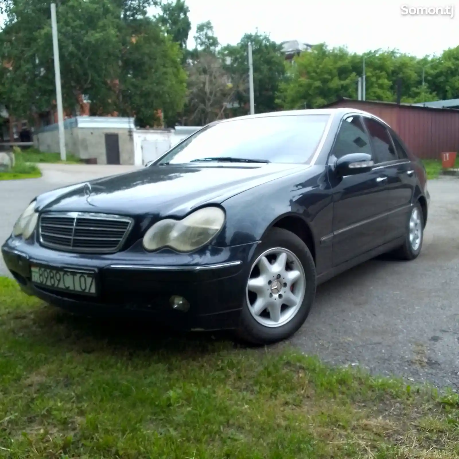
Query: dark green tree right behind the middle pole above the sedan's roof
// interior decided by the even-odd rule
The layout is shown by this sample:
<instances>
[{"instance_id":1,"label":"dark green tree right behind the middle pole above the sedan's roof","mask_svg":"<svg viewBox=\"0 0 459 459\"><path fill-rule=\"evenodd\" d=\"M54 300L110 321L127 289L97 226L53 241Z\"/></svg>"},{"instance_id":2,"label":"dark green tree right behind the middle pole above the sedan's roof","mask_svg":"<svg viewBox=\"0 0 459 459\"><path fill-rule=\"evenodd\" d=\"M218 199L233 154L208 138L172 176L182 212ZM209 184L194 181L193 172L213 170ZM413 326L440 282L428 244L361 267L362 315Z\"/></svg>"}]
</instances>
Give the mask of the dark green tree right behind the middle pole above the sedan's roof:
<instances>
[{"instance_id":1,"label":"dark green tree right behind the middle pole above the sedan's roof","mask_svg":"<svg viewBox=\"0 0 459 459\"><path fill-rule=\"evenodd\" d=\"M227 45L220 51L224 68L232 79L248 82L248 45L252 44L253 92L257 113L279 108L276 94L285 77L285 59L278 45L266 34L245 34L237 45ZM246 114L249 103L247 84L235 94L239 106L237 114Z\"/></svg>"}]
</instances>

